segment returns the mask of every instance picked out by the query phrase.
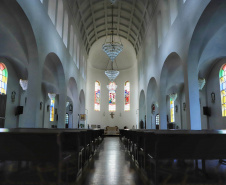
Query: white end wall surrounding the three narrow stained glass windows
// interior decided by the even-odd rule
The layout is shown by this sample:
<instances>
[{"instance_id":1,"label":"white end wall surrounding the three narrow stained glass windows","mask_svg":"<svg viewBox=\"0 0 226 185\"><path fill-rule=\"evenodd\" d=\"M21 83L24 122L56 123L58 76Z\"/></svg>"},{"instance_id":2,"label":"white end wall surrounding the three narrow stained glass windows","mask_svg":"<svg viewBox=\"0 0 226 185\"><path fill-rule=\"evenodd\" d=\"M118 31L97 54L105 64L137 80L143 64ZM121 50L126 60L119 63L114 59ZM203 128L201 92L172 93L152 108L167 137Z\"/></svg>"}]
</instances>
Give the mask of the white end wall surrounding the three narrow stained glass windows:
<instances>
[{"instance_id":1,"label":"white end wall surrounding the three narrow stained glass windows","mask_svg":"<svg viewBox=\"0 0 226 185\"><path fill-rule=\"evenodd\" d=\"M127 70L120 70L119 76L116 78L115 83L118 86L116 90L116 112L114 112L114 118L110 116L108 111L108 89L107 85L109 80L104 74L104 70L88 67L87 72L87 92L86 92L86 109L88 109L87 123L89 126L101 125L101 128L106 126L118 126L123 128L127 126L132 128L136 126L138 109L138 77L136 65ZM94 111L94 84L98 80L101 83L101 100L100 111ZM130 82L130 111L124 111L124 83Z\"/></svg>"}]
</instances>

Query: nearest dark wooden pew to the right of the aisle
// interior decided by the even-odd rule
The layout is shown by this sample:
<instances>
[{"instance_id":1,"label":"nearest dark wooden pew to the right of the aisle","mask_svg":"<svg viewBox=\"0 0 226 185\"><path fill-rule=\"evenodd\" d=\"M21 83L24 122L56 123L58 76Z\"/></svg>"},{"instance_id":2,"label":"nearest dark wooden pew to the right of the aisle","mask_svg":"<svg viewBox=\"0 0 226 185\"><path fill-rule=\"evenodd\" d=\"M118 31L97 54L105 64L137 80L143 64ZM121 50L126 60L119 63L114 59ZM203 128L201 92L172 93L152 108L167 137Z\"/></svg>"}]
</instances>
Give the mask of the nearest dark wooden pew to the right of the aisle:
<instances>
[{"instance_id":1,"label":"nearest dark wooden pew to the right of the aisle","mask_svg":"<svg viewBox=\"0 0 226 185\"><path fill-rule=\"evenodd\" d=\"M226 133L207 130L145 132L145 155L154 166L153 177L158 184L158 162L165 159L205 160L226 158Z\"/></svg>"}]
</instances>

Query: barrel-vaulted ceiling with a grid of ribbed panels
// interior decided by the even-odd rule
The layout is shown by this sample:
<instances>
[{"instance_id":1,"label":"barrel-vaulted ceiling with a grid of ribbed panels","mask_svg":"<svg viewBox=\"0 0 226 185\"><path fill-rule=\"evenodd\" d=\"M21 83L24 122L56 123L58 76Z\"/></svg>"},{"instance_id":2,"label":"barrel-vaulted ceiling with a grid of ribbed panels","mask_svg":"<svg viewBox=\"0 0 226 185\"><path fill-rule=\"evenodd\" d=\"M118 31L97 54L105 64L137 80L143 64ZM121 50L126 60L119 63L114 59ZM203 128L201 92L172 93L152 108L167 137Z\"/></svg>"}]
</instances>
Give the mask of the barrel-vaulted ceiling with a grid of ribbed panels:
<instances>
[{"instance_id":1,"label":"barrel-vaulted ceiling with a grid of ribbed panels","mask_svg":"<svg viewBox=\"0 0 226 185\"><path fill-rule=\"evenodd\" d=\"M136 53L144 39L158 0L116 0L113 33L127 39ZM112 33L110 0L67 0L87 53L95 41Z\"/></svg>"}]
</instances>

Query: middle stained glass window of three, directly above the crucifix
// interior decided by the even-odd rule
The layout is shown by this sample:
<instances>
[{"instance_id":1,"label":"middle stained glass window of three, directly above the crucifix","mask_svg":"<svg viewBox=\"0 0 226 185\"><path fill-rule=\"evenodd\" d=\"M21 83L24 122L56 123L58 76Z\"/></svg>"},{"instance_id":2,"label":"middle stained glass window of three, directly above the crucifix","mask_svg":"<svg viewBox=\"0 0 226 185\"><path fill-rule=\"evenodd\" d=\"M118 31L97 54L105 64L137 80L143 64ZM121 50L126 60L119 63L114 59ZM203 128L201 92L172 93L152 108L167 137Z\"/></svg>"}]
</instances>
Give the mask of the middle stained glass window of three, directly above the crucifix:
<instances>
[{"instance_id":1,"label":"middle stained glass window of three, directly above the crucifix","mask_svg":"<svg viewBox=\"0 0 226 185\"><path fill-rule=\"evenodd\" d=\"M108 86L109 90L109 112L115 112L116 111L116 88L117 85L115 82L110 82Z\"/></svg>"}]
</instances>

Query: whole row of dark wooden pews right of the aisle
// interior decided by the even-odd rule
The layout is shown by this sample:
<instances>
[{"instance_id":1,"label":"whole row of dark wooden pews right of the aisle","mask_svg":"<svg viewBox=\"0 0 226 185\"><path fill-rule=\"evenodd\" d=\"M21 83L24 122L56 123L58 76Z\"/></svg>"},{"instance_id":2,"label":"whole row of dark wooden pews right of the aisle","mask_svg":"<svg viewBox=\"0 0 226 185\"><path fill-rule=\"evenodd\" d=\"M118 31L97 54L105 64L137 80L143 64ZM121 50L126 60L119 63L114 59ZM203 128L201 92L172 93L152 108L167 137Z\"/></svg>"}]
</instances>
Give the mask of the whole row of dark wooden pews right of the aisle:
<instances>
[{"instance_id":1,"label":"whole row of dark wooden pews right of the aisle","mask_svg":"<svg viewBox=\"0 0 226 185\"><path fill-rule=\"evenodd\" d=\"M202 160L205 173L205 160L226 158L226 148L222 146L225 130L128 130L123 134L127 151L154 184L158 184L161 160ZM148 164L151 168L147 168Z\"/></svg>"}]
</instances>

